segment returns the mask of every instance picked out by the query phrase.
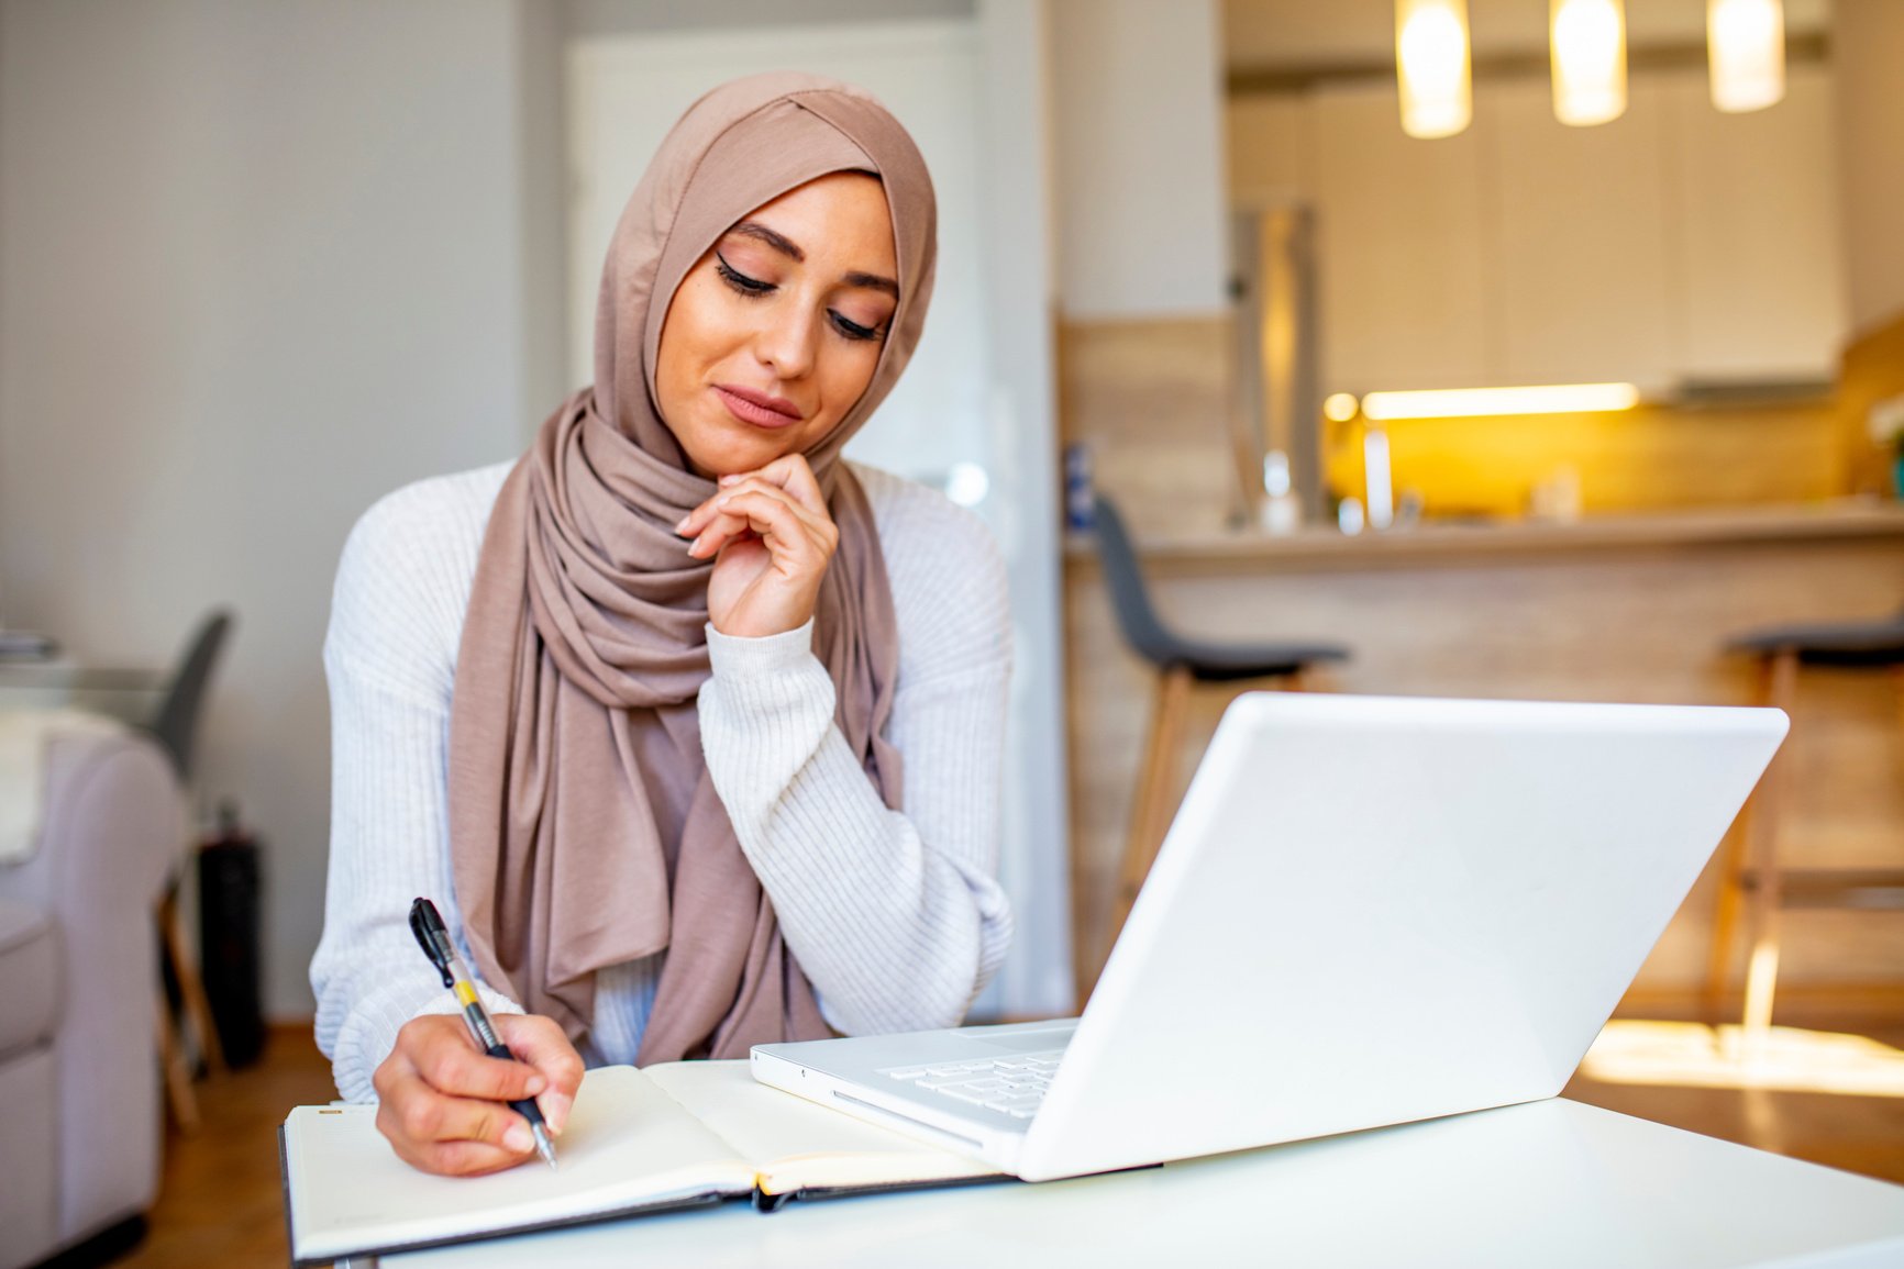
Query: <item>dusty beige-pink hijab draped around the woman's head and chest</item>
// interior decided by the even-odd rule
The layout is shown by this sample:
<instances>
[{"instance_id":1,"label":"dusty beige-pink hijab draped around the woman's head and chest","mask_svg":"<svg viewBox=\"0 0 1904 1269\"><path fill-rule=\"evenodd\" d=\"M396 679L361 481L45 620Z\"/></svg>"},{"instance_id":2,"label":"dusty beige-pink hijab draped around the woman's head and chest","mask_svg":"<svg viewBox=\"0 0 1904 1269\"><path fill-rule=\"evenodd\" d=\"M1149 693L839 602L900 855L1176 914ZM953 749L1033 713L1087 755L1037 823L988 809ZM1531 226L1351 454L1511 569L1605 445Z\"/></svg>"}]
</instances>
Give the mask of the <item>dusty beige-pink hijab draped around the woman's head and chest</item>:
<instances>
[{"instance_id":1,"label":"dusty beige-pink hijab draped around the woman's head and chest","mask_svg":"<svg viewBox=\"0 0 1904 1269\"><path fill-rule=\"evenodd\" d=\"M449 843L470 951L491 986L579 1039L596 974L666 949L644 1065L826 1035L703 761L712 563L689 559L674 525L714 485L655 409L655 358L674 289L731 225L847 169L885 186L901 301L866 394L807 453L840 525L815 654L842 734L899 807L899 755L883 740L893 597L840 449L918 344L935 205L912 139L866 93L765 74L682 116L609 244L594 386L550 415L510 472L476 565L449 717Z\"/></svg>"}]
</instances>

